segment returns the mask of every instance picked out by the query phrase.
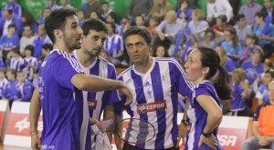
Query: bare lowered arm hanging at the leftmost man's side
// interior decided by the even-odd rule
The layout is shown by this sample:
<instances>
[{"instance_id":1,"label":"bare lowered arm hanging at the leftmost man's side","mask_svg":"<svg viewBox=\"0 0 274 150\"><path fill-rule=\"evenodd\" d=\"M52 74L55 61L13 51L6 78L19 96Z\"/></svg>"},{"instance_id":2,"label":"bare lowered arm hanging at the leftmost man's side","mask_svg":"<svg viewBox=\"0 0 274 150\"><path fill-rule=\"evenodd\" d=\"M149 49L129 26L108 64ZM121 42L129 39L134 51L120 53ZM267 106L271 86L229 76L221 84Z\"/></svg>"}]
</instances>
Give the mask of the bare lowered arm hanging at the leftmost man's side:
<instances>
[{"instance_id":1,"label":"bare lowered arm hanging at the leftmost man's side","mask_svg":"<svg viewBox=\"0 0 274 150\"><path fill-rule=\"evenodd\" d=\"M37 132L37 125L38 125L40 112L41 112L41 104L39 100L39 91L36 88L32 95L30 106L29 106L31 148L34 150L38 150L42 148L41 140Z\"/></svg>"}]
</instances>

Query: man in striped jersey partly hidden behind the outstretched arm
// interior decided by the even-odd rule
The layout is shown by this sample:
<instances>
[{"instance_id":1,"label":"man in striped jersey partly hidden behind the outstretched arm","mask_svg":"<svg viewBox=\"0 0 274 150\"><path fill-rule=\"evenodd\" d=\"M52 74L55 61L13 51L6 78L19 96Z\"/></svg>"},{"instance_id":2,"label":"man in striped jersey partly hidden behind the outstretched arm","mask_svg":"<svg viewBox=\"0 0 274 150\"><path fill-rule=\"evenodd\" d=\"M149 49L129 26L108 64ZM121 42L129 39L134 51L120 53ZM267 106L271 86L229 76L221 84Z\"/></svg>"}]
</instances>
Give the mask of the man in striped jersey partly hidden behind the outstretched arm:
<instances>
[{"instance_id":1,"label":"man in striped jersey partly hidden behind the outstretched arm","mask_svg":"<svg viewBox=\"0 0 274 150\"><path fill-rule=\"evenodd\" d=\"M79 50L73 51L76 59L79 62L81 69L87 75L97 75L103 78L116 79L116 70L114 65L100 57L100 52L104 42L107 39L108 28L99 19L89 19L82 25L83 38L82 45ZM83 91L84 102L89 105L90 123L91 125L99 125L100 130L104 131L104 126L99 122L100 115L104 110L104 120L114 117L113 104L119 102L116 90L101 91L101 92L86 92ZM86 110L88 107L86 107ZM88 126L85 126L88 127ZM86 136L87 132L81 133ZM112 133L109 132L111 141ZM95 135L91 135L91 149L95 149ZM84 141L80 141L84 142ZM117 145L117 149L121 149Z\"/></svg>"}]
</instances>

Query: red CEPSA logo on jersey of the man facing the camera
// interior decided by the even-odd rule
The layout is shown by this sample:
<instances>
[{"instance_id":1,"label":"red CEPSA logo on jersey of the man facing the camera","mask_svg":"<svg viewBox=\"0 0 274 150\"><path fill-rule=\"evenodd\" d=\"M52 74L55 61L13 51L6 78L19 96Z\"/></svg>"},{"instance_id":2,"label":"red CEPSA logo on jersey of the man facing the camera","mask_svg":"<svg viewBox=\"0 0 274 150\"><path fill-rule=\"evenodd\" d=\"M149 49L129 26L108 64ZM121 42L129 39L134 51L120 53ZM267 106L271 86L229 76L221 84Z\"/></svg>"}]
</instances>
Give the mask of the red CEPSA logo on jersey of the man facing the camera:
<instances>
[{"instance_id":1,"label":"red CEPSA logo on jersey of the man facing the camera","mask_svg":"<svg viewBox=\"0 0 274 150\"><path fill-rule=\"evenodd\" d=\"M147 113L147 112L154 112L158 110L166 109L166 101L160 101L160 102L153 102L148 104L141 104L137 105L137 113Z\"/></svg>"}]
</instances>

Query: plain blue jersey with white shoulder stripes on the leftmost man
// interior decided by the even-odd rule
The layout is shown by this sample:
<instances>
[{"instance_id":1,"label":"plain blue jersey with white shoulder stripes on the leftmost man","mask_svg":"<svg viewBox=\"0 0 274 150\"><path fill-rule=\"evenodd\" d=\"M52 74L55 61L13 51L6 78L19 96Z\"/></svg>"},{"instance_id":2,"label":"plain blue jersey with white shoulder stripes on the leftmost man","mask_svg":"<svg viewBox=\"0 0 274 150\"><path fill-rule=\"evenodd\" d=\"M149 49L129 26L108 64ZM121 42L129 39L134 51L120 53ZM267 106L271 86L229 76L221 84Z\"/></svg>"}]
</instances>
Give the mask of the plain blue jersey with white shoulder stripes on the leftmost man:
<instances>
[{"instance_id":1,"label":"plain blue jersey with white shoulder stripes on the leftmost man","mask_svg":"<svg viewBox=\"0 0 274 150\"><path fill-rule=\"evenodd\" d=\"M58 49L41 65L38 89L43 111L42 149L82 147L80 141L85 139L80 139L80 127L89 118L83 118L79 110L84 107L82 92L71 84L72 76L79 73L82 71L74 55Z\"/></svg>"}]
</instances>

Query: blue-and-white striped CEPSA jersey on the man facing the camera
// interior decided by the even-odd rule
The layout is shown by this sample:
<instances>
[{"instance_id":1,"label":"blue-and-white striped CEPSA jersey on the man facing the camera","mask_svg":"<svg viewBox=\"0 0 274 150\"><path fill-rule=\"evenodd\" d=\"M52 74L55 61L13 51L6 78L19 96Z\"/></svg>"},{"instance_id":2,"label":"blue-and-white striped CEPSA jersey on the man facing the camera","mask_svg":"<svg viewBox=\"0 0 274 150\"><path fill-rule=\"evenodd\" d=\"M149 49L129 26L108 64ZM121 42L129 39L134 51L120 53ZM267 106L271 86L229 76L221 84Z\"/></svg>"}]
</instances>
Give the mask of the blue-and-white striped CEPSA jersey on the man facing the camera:
<instances>
[{"instance_id":1,"label":"blue-and-white striped CEPSA jersey on the man facing the camera","mask_svg":"<svg viewBox=\"0 0 274 150\"><path fill-rule=\"evenodd\" d=\"M192 83L186 81L182 66L173 58L152 58L153 65L146 74L134 65L118 76L132 89L133 102L127 113L151 123L156 135L145 144L131 144L145 149L165 149L176 144L178 135L178 93L189 95ZM136 126L138 128L138 126ZM152 129L149 129L151 131ZM139 131L127 131L129 141L136 141Z\"/></svg>"}]
</instances>

